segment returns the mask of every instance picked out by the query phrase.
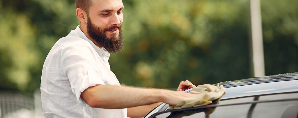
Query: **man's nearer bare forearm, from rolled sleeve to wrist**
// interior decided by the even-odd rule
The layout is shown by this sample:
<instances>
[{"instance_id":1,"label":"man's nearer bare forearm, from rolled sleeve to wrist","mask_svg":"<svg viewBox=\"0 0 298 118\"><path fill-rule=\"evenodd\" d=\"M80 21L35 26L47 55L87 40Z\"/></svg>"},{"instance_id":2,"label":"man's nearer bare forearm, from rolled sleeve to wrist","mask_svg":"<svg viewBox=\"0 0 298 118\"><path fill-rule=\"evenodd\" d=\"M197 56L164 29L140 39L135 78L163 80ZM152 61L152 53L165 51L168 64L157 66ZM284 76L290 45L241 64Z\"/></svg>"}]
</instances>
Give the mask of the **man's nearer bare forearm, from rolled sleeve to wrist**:
<instances>
[{"instance_id":1,"label":"man's nearer bare forearm, from rolled sleeve to wrist","mask_svg":"<svg viewBox=\"0 0 298 118\"><path fill-rule=\"evenodd\" d=\"M87 88L81 97L91 107L130 108L164 101L162 89L97 85Z\"/></svg>"}]
</instances>

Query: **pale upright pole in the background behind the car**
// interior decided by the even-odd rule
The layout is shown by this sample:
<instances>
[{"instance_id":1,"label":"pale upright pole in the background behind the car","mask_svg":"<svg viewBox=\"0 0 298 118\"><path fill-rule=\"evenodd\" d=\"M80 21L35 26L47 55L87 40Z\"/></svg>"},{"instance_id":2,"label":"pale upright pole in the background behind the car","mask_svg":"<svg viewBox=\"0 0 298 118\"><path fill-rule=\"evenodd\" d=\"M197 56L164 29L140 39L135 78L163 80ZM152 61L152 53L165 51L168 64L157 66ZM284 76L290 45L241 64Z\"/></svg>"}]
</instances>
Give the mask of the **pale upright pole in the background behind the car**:
<instances>
[{"instance_id":1,"label":"pale upright pole in the background behind the car","mask_svg":"<svg viewBox=\"0 0 298 118\"><path fill-rule=\"evenodd\" d=\"M250 0L252 29L252 66L254 77L265 75L260 0Z\"/></svg>"}]
</instances>

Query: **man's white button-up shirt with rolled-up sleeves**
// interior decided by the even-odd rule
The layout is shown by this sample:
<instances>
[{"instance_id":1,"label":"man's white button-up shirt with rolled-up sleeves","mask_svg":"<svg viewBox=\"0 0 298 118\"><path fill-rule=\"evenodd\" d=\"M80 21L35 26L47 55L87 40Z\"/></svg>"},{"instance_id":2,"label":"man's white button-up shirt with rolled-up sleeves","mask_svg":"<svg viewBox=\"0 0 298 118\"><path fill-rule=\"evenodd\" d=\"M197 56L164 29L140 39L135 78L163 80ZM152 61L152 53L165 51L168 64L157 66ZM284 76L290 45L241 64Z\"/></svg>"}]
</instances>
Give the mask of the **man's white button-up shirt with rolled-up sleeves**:
<instances>
[{"instance_id":1,"label":"man's white button-up shirt with rolled-up sleeves","mask_svg":"<svg viewBox=\"0 0 298 118\"><path fill-rule=\"evenodd\" d=\"M97 47L79 26L60 38L46 57L41 74L41 102L47 118L126 118L125 109L92 108L81 92L97 84L120 86L111 72L110 53Z\"/></svg>"}]
</instances>

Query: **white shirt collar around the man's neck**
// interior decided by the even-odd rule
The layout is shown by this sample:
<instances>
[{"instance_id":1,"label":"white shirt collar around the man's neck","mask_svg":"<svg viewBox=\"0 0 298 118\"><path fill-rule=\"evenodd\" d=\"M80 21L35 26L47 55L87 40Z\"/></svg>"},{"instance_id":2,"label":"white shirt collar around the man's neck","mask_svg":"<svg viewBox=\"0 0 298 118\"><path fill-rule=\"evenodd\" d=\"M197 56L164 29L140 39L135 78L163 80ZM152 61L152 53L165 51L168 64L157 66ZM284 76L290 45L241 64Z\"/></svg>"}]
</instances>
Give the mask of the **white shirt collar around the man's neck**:
<instances>
[{"instance_id":1,"label":"white shirt collar around the man's neck","mask_svg":"<svg viewBox=\"0 0 298 118\"><path fill-rule=\"evenodd\" d=\"M110 53L108 52L108 50L106 50L104 47L99 48L97 45L95 45L89 38L87 38L87 36L80 29L79 25L77 26L77 28L75 30L72 30L71 33L72 32L77 33L78 35L80 35L80 38L83 38L86 41L88 41L92 45L92 47L95 49L97 54L100 56L100 58L102 58L105 63L108 62L109 57L110 57Z\"/></svg>"}]
</instances>

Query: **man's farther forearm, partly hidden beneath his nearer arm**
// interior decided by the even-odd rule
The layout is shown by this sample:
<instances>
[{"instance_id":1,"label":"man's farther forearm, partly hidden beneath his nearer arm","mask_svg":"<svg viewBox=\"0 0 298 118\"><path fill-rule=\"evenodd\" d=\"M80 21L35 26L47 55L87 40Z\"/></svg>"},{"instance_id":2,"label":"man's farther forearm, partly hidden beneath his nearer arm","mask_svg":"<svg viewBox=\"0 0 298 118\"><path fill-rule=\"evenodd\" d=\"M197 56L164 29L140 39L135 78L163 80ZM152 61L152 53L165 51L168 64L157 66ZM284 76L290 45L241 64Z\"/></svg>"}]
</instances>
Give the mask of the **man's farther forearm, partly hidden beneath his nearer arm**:
<instances>
[{"instance_id":1,"label":"man's farther forearm, partly hidden beneath his nearer arm","mask_svg":"<svg viewBox=\"0 0 298 118\"><path fill-rule=\"evenodd\" d=\"M144 117L149 111L161 103L162 102L127 108L127 116L132 118Z\"/></svg>"}]
</instances>

